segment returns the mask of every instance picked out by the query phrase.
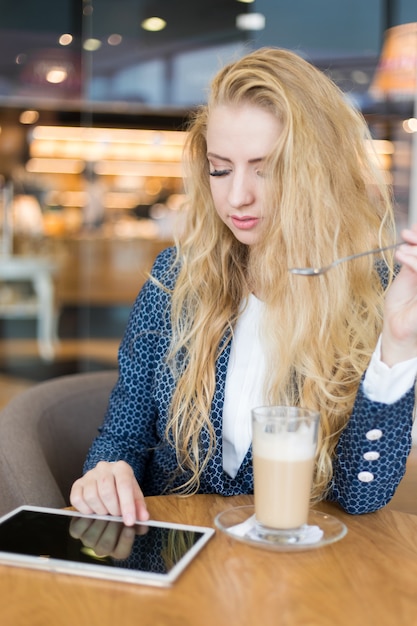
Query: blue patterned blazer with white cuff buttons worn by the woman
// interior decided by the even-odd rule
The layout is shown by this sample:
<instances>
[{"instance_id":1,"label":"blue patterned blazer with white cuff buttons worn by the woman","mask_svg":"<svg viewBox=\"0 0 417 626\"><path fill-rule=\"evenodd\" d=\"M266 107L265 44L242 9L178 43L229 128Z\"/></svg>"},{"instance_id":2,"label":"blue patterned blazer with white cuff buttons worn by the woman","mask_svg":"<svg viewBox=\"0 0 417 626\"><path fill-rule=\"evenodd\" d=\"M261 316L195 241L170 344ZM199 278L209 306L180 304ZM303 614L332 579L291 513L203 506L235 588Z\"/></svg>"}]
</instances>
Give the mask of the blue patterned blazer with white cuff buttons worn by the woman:
<instances>
[{"instance_id":1,"label":"blue patterned blazer with white cuff buttons worn by the woman","mask_svg":"<svg viewBox=\"0 0 417 626\"><path fill-rule=\"evenodd\" d=\"M164 250L152 274L168 288L176 280L171 265L174 251ZM169 493L183 484L175 450L165 438L174 389L165 364L171 336L170 295L148 280L130 313L119 348L119 379L108 410L85 462L84 471L99 461L124 460L145 495ZM222 413L230 342L216 365L216 390L211 420L217 446L202 476L200 493L224 496L253 493L252 450L249 449L235 478L222 466ZM384 506L393 496L404 471L411 446L414 388L398 402L372 402L359 389L352 415L337 446L334 476L327 498L350 513L366 513ZM207 449L207 433L202 433Z\"/></svg>"}]
</instances>

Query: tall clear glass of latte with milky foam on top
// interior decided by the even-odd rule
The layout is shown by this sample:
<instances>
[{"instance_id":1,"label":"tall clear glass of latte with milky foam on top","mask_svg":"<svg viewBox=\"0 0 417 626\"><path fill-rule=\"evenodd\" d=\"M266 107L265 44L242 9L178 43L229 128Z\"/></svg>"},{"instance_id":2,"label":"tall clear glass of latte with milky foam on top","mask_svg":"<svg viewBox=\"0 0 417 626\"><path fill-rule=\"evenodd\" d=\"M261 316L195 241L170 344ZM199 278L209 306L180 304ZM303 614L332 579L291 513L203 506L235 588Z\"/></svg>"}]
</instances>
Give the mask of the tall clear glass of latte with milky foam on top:
<instances>
[{"instance_id":1,"label":"tall clear glass of latte with milky foam on top","mask_svg":"<svg viewBox=\"0 0 417 626\"><path fill-rule=\"evenodd\" d=\"M255 517L283 540L306 527L319 413L291 406L252 410Z\"/></svg>"}]
</instances>

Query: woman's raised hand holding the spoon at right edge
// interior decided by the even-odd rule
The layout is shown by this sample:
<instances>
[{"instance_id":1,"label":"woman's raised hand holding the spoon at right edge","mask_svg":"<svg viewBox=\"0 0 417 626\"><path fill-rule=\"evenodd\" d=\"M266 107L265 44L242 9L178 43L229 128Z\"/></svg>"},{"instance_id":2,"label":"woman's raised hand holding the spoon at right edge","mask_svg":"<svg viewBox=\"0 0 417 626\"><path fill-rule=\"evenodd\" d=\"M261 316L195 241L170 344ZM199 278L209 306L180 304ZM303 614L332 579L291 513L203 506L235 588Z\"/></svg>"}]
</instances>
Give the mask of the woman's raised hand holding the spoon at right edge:
<instances>
[{"instance_id":1,"label":"woman's raised hand holding the spoon at right edge","mask_svg":"<svg viewBox=\"0 0 417 626\"><path fill-rule=\"evenodd\" d=\"M395 363L417 356L417 224L401 233L406 242L395 257L401 270L385 299L382 361Z\"/></svg>"}]
</instances>

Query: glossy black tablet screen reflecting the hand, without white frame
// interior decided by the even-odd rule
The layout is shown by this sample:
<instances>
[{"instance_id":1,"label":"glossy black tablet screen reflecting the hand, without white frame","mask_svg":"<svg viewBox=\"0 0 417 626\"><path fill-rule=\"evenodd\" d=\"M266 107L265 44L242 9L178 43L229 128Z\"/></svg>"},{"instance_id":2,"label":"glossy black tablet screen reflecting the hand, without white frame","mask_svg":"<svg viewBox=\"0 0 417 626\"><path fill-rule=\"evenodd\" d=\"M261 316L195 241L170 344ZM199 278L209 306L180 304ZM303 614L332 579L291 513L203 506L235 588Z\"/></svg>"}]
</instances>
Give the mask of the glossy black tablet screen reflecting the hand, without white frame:
<instances>
[{"instance_id":1,"label":"glossy black tablet screen reflecting the hand, without white frame","mask_svg":"<svg viewBox=\"0 0 417 626\"><path fill-rule=\"evenodd\" d=\"M0 552L165 574L203 536L196 530L22 510L0 524Z\"/></svg>"}]
</instances>

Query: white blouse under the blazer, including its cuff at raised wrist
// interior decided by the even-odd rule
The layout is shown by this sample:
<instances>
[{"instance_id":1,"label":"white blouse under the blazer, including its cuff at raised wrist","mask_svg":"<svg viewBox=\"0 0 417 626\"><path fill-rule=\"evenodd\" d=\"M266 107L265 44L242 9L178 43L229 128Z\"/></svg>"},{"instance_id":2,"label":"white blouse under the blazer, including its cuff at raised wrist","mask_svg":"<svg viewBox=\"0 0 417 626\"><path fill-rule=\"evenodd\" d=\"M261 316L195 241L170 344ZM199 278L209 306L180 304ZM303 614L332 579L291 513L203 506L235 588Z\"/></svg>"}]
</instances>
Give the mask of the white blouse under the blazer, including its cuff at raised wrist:
<instances>
[{"instance_id":1,"label":"white blouse under the blazer, including its cuff at raised wrist","mask_svg":"<svg viewBox=\"0 0 417 626\"><path fill-rule=\"evenodd\" d=\"M251 409L265 404L262 395L265 355L260 339L263 303L250 295L235 327L226 375L223 408L223 469L234 478L252 440ZM381 362L381 340L363 382L365 395L392 404L414 384L417 358L388 367Z\"/></svg>"}]
</instances>

